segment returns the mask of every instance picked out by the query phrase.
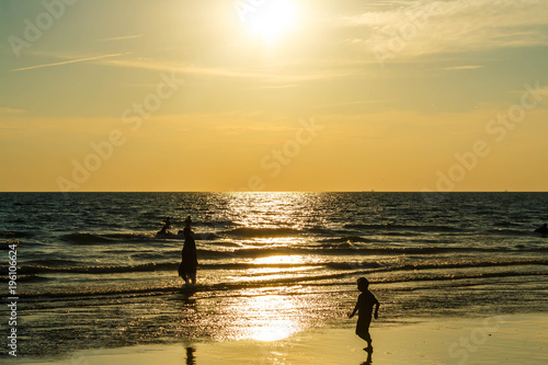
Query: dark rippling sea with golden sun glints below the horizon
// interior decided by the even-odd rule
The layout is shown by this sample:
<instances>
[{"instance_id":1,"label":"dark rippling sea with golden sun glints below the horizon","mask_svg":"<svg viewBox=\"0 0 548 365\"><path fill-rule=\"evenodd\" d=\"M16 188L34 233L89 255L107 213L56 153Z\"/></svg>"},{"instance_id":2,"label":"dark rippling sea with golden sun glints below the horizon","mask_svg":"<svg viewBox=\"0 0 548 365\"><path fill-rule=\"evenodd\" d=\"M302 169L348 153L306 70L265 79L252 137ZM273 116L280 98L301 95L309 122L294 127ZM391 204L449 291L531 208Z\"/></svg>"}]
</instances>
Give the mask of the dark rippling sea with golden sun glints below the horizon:
<instances>
[{"instance_id":1,"label":"dark rippling sea with golden sun glints below the horizon","mask_svg":"<svg viewBox=\"0 0 548 365\"><path fill-rule=\"evenodd\" d=\"M187 216L194 287L178 276ZM548 193L2 193L1 357L12 328L37 358L352 331L361 276L373 327L547 312L547 221Z\"/></svg>"}]
</instances>

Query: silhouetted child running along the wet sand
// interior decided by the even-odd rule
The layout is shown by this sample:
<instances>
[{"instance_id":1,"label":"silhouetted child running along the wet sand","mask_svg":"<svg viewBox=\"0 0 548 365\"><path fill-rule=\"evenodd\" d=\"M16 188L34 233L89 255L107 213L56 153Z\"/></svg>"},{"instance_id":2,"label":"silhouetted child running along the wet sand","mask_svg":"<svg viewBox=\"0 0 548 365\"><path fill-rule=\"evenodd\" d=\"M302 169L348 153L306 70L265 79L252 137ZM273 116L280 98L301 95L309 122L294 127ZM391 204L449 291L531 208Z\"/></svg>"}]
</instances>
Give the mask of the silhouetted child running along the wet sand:
<instances>
[{"instance_id":1,"label":"silhouetted child running along the wet sand","mask_svg":"<svg viewBox=\"0 0 548 365\"><path fill-rule=\"evenodd\" d=\"M367 347L365 351L373 351L372 346L372 335L369 334L369 324L372 323L373 307L376 305L375 319L378 318L378 308L380 307L379 301L372 292L368 289L369 282L365 277L359 277L357 280L357 288L362 294L357 297L356 306L349 318L354 317L357 311L357 323L356 323L356 334L362 339L367 341Z\"/></svg>"}]
</instances>

